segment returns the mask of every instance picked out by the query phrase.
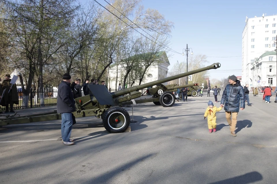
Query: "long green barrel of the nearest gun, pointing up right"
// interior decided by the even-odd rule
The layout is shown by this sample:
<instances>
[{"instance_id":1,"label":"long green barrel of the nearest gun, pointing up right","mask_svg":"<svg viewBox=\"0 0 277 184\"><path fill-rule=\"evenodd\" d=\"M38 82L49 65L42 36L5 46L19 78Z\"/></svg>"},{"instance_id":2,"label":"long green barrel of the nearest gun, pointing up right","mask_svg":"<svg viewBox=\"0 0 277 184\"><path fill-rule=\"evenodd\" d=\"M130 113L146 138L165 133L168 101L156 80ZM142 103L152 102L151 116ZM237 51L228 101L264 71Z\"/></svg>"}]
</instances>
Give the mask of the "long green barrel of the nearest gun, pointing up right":
<instances>
[{"instance_id":1,"label":"long green barrel of the nearest gun, pointing up right","mask_svg":"<svg viewBox=\"0 0 277 184\"><path fill-rule=\"evenodd\" d=\"M207 67L200 68L200 69L197 69L197 70L192 70L192 71L189 71L189 72L186 72L186 73L181 73L181 74L174 75L174 76L171 76L171 77L166 77L166 78L159 79L159 80L156 80L156 81L141 84L139 86L132 86L130 88L126 88L126 89L122 89L122 90L119 90L119 91L111 92L111 95L114 98L116 98L116 97L119 97L119 96L122 96L122 95L125 95L125 94L128 94L128 93L134 92L134 91L142 90L142 89L150 87L150 86L155 86L155 85L158 85L158 84L162 84L164 82L179 79L181 77L186 77L186 76L192 75L194 73L199 73L199 72L210 70L210 69L217 69L219 67L220 67L220 63L214 63L212 65L209 65Z\"/></svg>"}]
</instances>

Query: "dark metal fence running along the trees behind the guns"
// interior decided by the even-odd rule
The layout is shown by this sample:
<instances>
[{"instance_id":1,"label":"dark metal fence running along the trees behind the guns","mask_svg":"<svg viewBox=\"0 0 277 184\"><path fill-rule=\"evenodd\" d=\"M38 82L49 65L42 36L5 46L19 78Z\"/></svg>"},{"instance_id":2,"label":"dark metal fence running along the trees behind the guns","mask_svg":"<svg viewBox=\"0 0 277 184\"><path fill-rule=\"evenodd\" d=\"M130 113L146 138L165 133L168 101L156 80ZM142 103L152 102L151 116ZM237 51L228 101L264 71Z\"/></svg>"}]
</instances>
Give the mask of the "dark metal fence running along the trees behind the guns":
<instances>
[{"instance_id":1,"label":"dark metal fence running along the trees behind the guns","mask_svg":"<svg viewBox=\"0 0 277 184\"><path fill-rule=\"evenodd\" d=\"M143 89L140 91L142 94L146 95L146 90L147 89ZM27 105L23 104L22 89L18 88L17 91L18 91L19 104L18 105L14 104L14 109L25 109L25 108L57 105L58 90L56 90L56 89L47 88L47 89L44 89L43 92L36 92L35 90L31 89L31 92L29 93L28 103L26 103ZM109 88L109 92L115 92L115 91L117 91L117 89ZM83 90L82 90L82 96L84 96ZM44 100L41 100L41 97ZM44 101L44 102L42 103L42 101ZM5 110L5 106L0 106L0 110Z\"/></svg>"}]
</instances>

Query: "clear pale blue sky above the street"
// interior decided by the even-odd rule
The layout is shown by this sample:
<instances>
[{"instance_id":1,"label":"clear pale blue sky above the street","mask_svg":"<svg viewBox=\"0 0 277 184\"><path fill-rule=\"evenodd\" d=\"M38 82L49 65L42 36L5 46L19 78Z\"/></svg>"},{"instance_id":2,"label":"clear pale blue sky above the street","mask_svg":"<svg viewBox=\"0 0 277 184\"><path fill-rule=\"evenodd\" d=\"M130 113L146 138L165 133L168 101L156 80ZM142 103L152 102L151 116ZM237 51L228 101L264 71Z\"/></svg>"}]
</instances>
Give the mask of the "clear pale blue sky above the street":
<instances>
[{"instance_id":1,"label":"clear pale blue sky above the street","mask_svg":"<svg viewBox=\"0 0 277 184\"><path fill-rule=\"evenodd\" d=\"M107 5L104 0L97 1ZM156 9L166 20L174 23L169 45L172 50L182 53L188 44L194 55L208 56L207 66L220 62L220 68L209 71L210 79L222 79L229 75L241 76L242 31L246 16L252 18L261 17L262 14L277 14L276 0L141 1L145 9ZM179 63L186 61L186 55L170 51L169 55L169 71L177 60ZM190 56L189 54L188 57Z\"/></svg>"}]
</instances>

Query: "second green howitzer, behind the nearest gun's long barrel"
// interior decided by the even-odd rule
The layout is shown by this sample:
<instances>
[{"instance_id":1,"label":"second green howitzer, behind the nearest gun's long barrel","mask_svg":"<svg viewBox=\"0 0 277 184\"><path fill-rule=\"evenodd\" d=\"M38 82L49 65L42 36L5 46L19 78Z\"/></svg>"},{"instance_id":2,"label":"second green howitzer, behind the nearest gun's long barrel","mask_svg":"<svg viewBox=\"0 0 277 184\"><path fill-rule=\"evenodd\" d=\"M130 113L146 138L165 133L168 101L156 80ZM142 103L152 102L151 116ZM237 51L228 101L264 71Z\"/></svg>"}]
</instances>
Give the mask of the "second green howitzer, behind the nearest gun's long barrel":
<instances>
[{"instance_id":1,"label":"second green howitzer, behind the nearest gun's long barrel","mask_svg":"<svg viewBox=\"0 0 277 184\"><path fill-rule=\"evenodd\" d=\"M135 100L138 103L153 102L155 105L162 105L163 107L171 107L175 102L175 95L172 92L177 91L178 88L187 88L192 86L199 86L199 83L185 84L178 86L177 84L162 85L158 84L157 87L149 88L149 93L152 95L151 98L145 98ZM167 93L164 93L167 92ZM132 105L132 101L123 102L119 105Z\"/></svg>"}]
</instances>

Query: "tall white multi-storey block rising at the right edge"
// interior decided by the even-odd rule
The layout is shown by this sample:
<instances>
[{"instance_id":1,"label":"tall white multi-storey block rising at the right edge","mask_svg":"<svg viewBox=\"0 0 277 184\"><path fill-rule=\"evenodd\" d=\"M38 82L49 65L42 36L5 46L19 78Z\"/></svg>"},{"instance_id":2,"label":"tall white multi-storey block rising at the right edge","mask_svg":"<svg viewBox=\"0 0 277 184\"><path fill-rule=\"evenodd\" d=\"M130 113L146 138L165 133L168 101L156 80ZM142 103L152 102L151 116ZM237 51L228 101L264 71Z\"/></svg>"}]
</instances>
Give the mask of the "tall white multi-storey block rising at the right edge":
<instances>
[{"instance_id":1,"label":"tall white multi-storey block rising at the right edge","mask_svg":"<svg viewBox=\"0 0 277 184\"><path fill-rule=\"evenodd\" d=\"M242 84L251 84L249 64L267 51L274 51L277 35L277 15L248 18L242 32ZM269 44L271 47L269 48ZM276 60L275 60L276 61ZM276 70L275 70L276 71ZM276 73L275 73L276 75ZM248 77L247 77L248 76ZM275 80L276 81L276 80Z\"/></svg>"}]
</instances>

